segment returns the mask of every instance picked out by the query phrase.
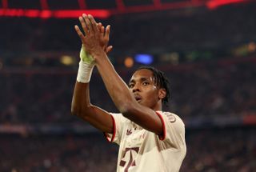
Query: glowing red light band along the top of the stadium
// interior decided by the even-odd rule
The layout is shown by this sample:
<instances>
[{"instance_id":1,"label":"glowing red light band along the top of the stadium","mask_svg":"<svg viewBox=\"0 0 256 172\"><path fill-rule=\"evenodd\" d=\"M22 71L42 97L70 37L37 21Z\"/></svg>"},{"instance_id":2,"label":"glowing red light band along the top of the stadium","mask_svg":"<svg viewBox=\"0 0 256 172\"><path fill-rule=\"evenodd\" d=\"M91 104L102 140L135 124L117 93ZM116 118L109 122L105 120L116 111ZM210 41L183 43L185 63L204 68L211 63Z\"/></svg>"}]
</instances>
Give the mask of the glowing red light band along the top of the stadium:
<instances>
[{"instance_id":1,"label":"glowing red light band along the top of the stadium","mask_svg":"<svg viewBox=\"0 0 256 172\"><path fill-rule=\"evenodd\" d=\"M1 1L1 0L0 0ZM39 9L22 9L12 8L8 0L2 0L0 8L0 17L27 17L27 18L78 18L81 14L92 14L95 18L109 18L111 15L143 13L157 10L174 10L182 8L198 8L207 6L210 10L218 6L226 6L234 3L253 2L255 0L182 0L174 2L162 2L161 0L152 0L151 4L138 6L126 6L123 0L115 0L116 7L103 10L81 10L86 9L86 1L78 0L80 9L78 10L53 10L50 9L47 0L40 0L41 8Z\"/></svg>"}]
</instances>

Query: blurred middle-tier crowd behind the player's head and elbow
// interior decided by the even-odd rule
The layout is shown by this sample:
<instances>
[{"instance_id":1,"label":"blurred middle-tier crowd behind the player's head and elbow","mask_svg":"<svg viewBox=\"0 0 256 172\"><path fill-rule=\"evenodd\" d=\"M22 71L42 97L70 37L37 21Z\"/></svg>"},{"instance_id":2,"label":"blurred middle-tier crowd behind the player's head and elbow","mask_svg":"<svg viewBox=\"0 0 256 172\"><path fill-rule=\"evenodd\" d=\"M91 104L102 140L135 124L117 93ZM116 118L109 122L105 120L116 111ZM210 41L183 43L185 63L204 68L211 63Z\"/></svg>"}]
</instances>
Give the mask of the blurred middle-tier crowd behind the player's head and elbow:
<instances>
[{"instance_id":1,"label":"blurred middle-tier crowd behind the player's head and elbow","mask_svg":"<svg viewBox=\"0 0 256 172\"><path fill-rule=\"evenodd\" d=\"M252 58L159 67L170 78L171 101L164 110L184 120L256 114L255 66ZM82 122L70 114L76 74L0 74L0 123ZM130 70L120 74L129 81ZM117 112L96 71L90 87L94 105Z\"/></svg>"}]
</instances>

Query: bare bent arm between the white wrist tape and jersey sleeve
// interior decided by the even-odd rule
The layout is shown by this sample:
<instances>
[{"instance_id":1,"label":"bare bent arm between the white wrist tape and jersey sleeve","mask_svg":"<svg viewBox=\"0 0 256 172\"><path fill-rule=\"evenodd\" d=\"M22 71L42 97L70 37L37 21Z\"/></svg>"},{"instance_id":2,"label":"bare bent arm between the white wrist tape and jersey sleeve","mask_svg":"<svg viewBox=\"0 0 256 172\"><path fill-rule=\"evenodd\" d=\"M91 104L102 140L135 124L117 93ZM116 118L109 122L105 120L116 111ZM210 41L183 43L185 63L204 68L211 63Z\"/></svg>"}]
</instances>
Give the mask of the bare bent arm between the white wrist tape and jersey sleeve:
<instances>
[{"instance_id":1,"label":"bare bent arm between the white wrist tape and jersey sleeve","mask_svg":"<svg viewBox=\"0 0 256 172\"><path fill-rule=\"evenodd\" d=\"M113 133L113 122L110 114L90 104L89 83L76 82L72 98L71 114L89 122L98 130Z\"/></svg>"}]
</instances>

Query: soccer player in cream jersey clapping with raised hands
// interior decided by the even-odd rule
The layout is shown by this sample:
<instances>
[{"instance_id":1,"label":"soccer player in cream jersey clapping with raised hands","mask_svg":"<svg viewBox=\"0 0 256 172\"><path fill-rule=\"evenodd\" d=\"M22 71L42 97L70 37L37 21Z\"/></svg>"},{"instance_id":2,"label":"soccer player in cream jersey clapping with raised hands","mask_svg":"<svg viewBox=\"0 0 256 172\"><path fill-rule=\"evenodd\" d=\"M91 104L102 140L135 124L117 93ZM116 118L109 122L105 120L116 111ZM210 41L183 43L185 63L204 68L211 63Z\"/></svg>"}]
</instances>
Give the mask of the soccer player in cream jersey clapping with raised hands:
<instances>
[{"instance_id":1,"label":"soccer player in cream jersey clapping with raised hands","mask_svg":"<svg viewBox=\"0 0 256 172\"><path fill-rule=\"evenodd\" d=\"M119 145L117 171L176 172L186 155L185 126L176 114L162 111L170 97L168 80L153 67L134 72L129 86L114 70L106 53L110 26L95 22L89 14L79 17L82 40L72 114L102 130L110 142ZM94 66L120 111L114 114L90 103L89 84Z\"/></svg>"}]
</instances>

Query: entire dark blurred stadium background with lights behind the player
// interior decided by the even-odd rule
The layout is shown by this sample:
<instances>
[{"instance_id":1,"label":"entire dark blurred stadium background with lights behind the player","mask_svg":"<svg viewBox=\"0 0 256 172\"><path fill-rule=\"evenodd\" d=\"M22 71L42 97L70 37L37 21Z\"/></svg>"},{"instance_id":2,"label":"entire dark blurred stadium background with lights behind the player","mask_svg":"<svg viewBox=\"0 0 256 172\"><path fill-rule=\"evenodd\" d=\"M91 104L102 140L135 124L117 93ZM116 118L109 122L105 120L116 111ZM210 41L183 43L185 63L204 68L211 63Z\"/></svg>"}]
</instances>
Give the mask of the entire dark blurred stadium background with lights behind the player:
<instances>
[{"instance_id":1,"label":"entire dark blurred stadium background with lights behind the player","mask_svg":"<svg viewBox=\"0 0 256 172\"><path fill-rule=\"evenodd\" d=\"M83 12L111 25L126 82L142 63L170 78L181 171L256 171L256 2L243 0L0 1L0 171L115 171L118 147L70 115ZM90 92L116 111L97 70Z\"/></svg>"}]
</instances>

